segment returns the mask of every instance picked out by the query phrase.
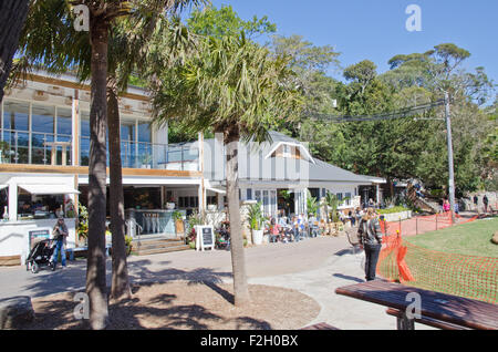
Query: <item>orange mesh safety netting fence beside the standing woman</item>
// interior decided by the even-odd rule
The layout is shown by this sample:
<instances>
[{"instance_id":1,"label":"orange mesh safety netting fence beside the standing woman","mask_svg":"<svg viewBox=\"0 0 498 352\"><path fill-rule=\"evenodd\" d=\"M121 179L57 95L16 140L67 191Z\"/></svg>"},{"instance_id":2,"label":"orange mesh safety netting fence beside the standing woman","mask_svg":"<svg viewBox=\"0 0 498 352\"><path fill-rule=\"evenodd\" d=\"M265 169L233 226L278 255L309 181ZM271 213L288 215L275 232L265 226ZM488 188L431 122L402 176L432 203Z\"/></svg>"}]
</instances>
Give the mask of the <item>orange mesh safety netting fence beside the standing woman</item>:
<instances>
[{"instance_id":1,"label":"orange mesh safety netting fence beside the standing woman","mask_svg":"<svg viewBox=\"0 0 498 352\"><path fill-rule=\"evenodd\" d=\"M382 222L381 222L382 224ZM391 234L390 228L395 228ZM383 230L385 224L382 224ZM387 224L378 276L426 290L498 303L498 258L453 255L404 241Z\"/></svg>"}]
</instances>

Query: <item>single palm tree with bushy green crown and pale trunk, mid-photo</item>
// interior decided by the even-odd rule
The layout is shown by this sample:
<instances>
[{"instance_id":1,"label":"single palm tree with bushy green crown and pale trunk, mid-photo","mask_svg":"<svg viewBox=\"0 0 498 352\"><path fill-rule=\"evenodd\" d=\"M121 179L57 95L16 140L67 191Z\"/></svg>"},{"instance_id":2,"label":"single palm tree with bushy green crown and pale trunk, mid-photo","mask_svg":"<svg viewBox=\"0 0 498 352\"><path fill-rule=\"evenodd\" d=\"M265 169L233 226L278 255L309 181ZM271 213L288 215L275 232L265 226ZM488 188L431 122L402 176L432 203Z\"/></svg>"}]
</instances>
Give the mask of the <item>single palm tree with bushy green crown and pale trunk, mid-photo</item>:
<instances>
[{"instance_id":1,"label":"single palm tree with bushy green crown and pale trunk, mid-photo","mask_svg":"<svg viewBox=\"0 0 498 352\"><path fill-rule=\"evenodd\" d=\"M250 301L238 191L239 142L262 143L278 116L297 106L287 86L288 58L240 37L207 38L199 54L165 70L152 85L156 121L175 120L191 132L222 133L226 153L228 215L235 304Z\"/></svg>"}]
</instances>

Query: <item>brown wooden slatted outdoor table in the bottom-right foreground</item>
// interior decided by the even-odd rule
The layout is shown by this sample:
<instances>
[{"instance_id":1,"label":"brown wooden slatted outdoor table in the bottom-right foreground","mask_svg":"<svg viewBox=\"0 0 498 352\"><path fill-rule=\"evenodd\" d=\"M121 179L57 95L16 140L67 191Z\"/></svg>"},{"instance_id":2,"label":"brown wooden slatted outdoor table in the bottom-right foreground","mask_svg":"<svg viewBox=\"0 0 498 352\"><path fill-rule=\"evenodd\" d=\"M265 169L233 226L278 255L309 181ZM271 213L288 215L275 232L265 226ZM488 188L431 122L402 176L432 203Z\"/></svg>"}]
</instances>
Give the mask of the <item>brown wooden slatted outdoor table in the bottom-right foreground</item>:
<instances>
[{"instance_id":1,"label":"brown wooden slatted outdoor table in the bottom-right foreground","mask_svg":"<svg viewBox=\"0 0 498 352\"><path fill-rule=\"evenodd\" d=\"M414 329L414 321L406 317L406 309L413 304L409 293L421 298L421 315L449 324L478 330L498 330L498 306L468 298L407 287L382 280L374 280L338 288L335 293L396 309L398 329Z\"/></svg>"}]
</instances>

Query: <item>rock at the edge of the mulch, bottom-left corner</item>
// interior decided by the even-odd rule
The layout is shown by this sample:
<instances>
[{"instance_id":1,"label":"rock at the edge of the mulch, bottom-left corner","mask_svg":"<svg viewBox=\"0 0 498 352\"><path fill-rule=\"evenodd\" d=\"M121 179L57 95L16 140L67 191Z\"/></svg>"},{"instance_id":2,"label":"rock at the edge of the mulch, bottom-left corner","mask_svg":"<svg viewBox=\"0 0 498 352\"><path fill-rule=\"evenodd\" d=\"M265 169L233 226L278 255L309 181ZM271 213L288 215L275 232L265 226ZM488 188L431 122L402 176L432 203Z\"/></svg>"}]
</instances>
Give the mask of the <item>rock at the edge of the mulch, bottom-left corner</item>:
<instances>
[{"instance_id":1,"label":"rock at the edge of the mulch, bottom-left corner","mask_svg":"<svg viewBox=\"0 0 498 352\"><path fill-rule=\"evenodd\" d=\"M0 300L0 329L19 329L34 319L31 298L19 296Z\"/></svg>"}]
</instances>

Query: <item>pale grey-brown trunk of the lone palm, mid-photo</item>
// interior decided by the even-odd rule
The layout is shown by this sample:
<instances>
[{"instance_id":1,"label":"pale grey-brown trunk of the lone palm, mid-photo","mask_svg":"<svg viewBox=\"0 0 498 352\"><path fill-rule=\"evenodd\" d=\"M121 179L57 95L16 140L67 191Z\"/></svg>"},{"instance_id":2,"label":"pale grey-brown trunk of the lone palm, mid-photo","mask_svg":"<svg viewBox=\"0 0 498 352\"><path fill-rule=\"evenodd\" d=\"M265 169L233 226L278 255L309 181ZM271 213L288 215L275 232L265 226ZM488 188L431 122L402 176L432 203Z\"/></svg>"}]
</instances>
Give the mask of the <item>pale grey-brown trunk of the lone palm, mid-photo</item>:
<instances>
[{"instance_id":1,"label":"pale grey-brown trunk of the lone palm, mid-photo","mask_svg":"<svg viewBox=\"0 0 498 352\"><path fill-rule=\"evenodd\" d=\"M238 142L237 127L225 134L227 149L227 198L228 217L230 221L231 266L234 271L234 298L236 307L250 303L249 288L246 275L246 258L243 251L242 225L240 220L239 177L238 177Z\"/></svg>"}]
</instances>

